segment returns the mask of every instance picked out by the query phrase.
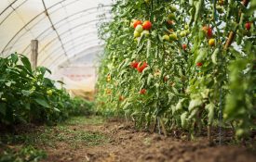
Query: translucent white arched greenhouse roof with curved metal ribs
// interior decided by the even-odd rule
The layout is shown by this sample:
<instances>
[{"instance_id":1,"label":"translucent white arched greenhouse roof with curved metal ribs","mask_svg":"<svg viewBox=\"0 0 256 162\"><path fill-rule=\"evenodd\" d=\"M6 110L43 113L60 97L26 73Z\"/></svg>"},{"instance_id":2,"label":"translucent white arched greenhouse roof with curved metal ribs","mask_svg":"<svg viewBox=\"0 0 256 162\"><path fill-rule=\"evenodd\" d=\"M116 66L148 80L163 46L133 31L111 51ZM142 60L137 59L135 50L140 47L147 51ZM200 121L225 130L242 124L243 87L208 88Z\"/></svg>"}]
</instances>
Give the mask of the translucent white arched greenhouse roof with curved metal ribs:
<instances>
[{"instance_id":1,"label":"translucent white arched greenhouse roof with curved metal ribs","mask_svg":"<svg viewBox=\"0 0 256 162\"><path fill-rule=\"evenodd\" d=\"M1 0L0 54L30 56L38 40L38 66L55 69L98 54L99 23L111 19L111 0Z\"/></svg>"}]
</instances>

